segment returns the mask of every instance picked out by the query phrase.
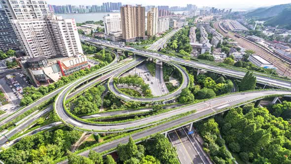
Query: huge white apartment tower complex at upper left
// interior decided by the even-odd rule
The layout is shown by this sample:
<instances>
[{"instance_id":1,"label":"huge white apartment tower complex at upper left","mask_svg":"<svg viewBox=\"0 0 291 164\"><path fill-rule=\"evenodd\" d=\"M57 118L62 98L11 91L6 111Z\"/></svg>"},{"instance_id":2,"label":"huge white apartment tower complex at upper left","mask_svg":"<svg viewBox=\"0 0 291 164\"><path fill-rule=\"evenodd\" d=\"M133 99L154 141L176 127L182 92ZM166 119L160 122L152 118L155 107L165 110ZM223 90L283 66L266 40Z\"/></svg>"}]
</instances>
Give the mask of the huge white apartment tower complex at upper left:
<instances>
[{"instance_id":1,"label":"huge white apartment tower complex at upper left","mask_svg":"<svg viewBox=\"0 0 291 164\"><path fill-rule=\"evenodd\" d=\"M75 20L50 13L47 0L0 0L0 4L30 57L83 53Z\"/></svg>"}]
</instances>

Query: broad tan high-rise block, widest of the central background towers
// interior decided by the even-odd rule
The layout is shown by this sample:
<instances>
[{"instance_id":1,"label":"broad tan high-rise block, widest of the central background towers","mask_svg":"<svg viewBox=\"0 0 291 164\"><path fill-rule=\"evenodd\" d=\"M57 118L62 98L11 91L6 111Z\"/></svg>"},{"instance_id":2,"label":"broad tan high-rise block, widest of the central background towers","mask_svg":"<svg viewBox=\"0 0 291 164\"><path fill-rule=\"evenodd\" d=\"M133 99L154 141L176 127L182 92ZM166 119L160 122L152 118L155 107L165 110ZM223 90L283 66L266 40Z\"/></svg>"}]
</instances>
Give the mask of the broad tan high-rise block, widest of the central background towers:
<instances>
[{"instance_id":1,"label":"broad tan high-rise block, widest of the central background towers","mask_svg":"<svg viewBox=\"0 0 291 164\"><path fill-rule=\"evenodd\" d=\"M146 35L146 8L141 5L125 5L120 8L122 39L126 42L144 39Z\"/></svg>"}]
</instances>

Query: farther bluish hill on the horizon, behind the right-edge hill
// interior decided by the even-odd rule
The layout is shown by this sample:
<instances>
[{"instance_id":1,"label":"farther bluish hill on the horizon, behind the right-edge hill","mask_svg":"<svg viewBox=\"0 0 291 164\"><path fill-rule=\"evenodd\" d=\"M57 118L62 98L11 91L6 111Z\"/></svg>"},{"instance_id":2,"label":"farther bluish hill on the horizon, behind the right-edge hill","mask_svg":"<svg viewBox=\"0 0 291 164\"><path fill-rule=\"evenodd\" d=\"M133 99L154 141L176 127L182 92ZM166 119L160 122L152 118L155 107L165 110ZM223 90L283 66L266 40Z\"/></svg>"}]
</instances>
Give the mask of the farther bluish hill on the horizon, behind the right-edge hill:
<instances>
[{"instance_id":1,"label":"farther bluish hill on the horizon, behind the right-edge hill","mask_svg":"<svg viewBox=\"0 0 291 164\"><path fill-rule=\"evenodd\" d=\"M258 18L267 18L277 16L285 8L291 7L291 3L288 4L279 4L270 7L257 8L254 11L251 11L246 14L247 17L258 17Z\"/></svg>"}]
</instances>

